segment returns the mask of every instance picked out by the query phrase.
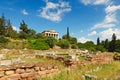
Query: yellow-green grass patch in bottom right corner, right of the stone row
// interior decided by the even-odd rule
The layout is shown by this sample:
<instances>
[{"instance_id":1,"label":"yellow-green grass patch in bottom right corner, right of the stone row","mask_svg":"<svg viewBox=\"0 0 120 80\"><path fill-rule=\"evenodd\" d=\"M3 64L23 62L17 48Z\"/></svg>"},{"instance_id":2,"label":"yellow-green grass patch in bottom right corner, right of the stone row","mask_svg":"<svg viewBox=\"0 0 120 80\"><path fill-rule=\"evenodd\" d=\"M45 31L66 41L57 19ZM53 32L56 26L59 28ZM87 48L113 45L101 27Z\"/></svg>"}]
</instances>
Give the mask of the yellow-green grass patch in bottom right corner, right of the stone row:
<instances>
[{"instance_id":1,"label":"yellow-green grass patch in bottom right corner, right of the stone row","mask_svg":"<svg viewBox=\"0 0 120 80\"><path fill-rule=\"evenodd\" d=\"M120 62L113 61L110 64L104 64L101 70L91 74L96 75L100 79L120 77Z\"/></svg>"}]
</instances>

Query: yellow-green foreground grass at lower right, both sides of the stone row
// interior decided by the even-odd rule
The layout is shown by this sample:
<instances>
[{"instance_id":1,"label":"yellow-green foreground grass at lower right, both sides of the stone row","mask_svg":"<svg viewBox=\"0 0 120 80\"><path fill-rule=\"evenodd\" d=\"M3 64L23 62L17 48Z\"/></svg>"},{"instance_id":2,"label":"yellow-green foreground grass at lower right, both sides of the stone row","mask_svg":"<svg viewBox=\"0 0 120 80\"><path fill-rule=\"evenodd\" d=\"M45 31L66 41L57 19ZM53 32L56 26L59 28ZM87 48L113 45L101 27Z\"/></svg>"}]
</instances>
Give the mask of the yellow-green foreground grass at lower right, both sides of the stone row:
<instances>
[{"instance_id":1,"label":"yellow-green foreground grass at lower right, both sides of the stone row","mask_svg":"<svg viewBox=\"0 0 120 80\"><path fill-rule=\"evenodd\" d=\"M98 80L102 80L104 78L115 79L117 77L120 77L120 62L113 61L110 64L104 64L104 65L94 64L83 67L78 66L77 68L72 69L70 71L64 70L53 77L45 78L42 80L84 80L82 76L86 74L88 71L94 70L97 67L101 67L101 68L98 71L93 71L89 74L97 76Z\"/></svg>"}]
</instances>

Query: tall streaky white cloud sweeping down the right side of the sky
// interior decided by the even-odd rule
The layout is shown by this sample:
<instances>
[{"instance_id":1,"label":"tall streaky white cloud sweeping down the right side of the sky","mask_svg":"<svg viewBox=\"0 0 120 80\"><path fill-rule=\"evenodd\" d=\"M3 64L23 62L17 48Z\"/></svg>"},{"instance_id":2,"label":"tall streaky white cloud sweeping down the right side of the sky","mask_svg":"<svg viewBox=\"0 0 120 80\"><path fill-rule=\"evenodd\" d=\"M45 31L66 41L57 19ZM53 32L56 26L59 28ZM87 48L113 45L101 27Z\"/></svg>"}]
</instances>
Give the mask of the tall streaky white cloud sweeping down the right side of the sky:
<instances>
[{"instance_id":1,"label":"tall streaky white cloud sweeping down the right side of the sky","mask_svg":"<svg viewBox=\"0 0 120 80\"><path fill-rule=\"evenodd\" d=\"M92 29L98 29L98 28L112 28L116 26L117 20L117 11L120 10L120 5L108 5L105 8L106 16L104 20L100 23L95 24Z\"/></svg>"}]
</instances>

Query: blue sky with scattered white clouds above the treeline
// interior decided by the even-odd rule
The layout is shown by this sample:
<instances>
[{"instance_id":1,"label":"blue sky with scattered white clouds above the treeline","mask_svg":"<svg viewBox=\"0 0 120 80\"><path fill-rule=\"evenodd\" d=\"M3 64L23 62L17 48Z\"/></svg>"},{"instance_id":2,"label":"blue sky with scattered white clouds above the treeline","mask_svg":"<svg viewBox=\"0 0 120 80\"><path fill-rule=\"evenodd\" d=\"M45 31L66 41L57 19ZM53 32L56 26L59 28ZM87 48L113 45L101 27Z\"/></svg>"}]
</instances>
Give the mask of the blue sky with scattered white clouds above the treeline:
<instances>
[{"instance_id":1,"label":"blue sky with scattered white clouds above the treeline","mask_svg":"<svg viewBox=\"0 0 120 80\"><path fill-rule=\"evenodd\" d=\"M2 13L16 30L24 20L28 28L53 29L60 37L69 27L78 42L110 39L113 33L120 39L120 0L0 0Z\"/></svg>"}]
</instances>

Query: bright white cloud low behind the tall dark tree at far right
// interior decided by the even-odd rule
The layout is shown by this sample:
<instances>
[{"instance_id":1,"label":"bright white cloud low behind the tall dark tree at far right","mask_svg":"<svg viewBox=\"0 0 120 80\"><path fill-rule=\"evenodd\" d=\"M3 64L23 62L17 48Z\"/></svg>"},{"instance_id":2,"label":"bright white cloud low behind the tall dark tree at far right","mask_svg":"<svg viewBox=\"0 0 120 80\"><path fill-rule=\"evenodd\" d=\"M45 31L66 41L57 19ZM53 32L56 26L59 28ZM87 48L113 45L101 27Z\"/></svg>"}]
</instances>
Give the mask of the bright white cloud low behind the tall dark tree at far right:
<instances>
[{"instance_id":1,"label":"bright white cloud low behind the tall dark tree at far right","mask_svg":"<svg viewBox=\"0 0 120 80\"><path fill-rule=\"evenodd\" d=\"M120 29L117 29L117 28L116 29L109 28L107 30L100 32L100 37L102 40L111 39L113 33L116 34L117 39L120 39Z\"/></svg>"}]
</instances>

